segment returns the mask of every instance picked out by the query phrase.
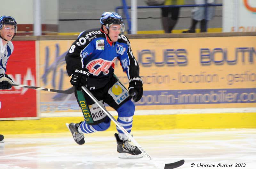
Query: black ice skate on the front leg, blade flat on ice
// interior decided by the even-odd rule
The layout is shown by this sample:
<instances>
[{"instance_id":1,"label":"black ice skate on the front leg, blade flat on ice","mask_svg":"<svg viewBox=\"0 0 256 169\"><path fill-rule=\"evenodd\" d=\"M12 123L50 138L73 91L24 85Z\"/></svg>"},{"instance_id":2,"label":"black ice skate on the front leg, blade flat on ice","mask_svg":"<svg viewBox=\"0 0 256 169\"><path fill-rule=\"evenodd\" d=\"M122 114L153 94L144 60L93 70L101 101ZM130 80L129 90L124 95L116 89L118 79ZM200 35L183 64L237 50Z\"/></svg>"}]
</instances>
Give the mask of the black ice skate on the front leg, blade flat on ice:
<instances>
[{"instance_id":1,"label":"black ice skate on the front leg, blade flat on ice","mask_svg":"<svg viewBox=\"0 0 256 169\"><path fill-rule=\"evenodd\" d=\"M120 140L118 134L115 133L116 143L117 143L117 152L119 158L142 158L143 154L140 149L135 146L129 144L128 140L123 141Z\"/></svg>"}]
</instances>

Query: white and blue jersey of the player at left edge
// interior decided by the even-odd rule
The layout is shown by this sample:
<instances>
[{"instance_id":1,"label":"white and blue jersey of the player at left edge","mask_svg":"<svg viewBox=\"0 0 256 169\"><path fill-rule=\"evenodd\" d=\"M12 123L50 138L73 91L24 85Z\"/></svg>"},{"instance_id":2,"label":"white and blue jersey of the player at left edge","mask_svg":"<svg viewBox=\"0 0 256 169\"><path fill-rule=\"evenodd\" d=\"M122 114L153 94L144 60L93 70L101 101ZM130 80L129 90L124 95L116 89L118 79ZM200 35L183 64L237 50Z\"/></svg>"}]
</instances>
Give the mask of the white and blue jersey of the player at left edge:
<instances>
[{"instance_id":1,"label":"white and blue jersey of the player at left edge","mask_svg":"<svg viewBox=\"0 0 256 169\"><path fill-rule=\"evenodd\" d=\"M10 55L13 52L13 44L9 41L3 46L3 39L0 38L0 74L5 74L6 65Z\"/></svg>"}]
</instances>

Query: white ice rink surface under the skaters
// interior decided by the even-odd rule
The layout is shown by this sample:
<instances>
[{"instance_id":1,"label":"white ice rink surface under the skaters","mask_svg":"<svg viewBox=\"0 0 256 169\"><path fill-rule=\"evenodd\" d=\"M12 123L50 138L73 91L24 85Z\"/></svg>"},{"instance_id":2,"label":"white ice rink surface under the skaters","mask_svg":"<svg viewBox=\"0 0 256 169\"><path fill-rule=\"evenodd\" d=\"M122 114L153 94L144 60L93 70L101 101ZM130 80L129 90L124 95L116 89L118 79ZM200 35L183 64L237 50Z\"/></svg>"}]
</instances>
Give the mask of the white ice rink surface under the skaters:
<instances>
[{"instance_id":1,"label":"white ice rink surface under the skaters","mask_svg":"<svg viewBox=\"0 0 256 169\"><path fill-rule=\"evenodd\" d=\"M256 129L147 130L132 134L157 162L184 159L180 169L256 169ZM5 135L4 140L0 143L0 169L156 168L145 157L117 158L114 131L85 135L84 145L77 145L68 132ZM218 167L219 163L232 166ZM236 163L243 165L235 167ZM203 166L207 164L215 166Z\"/></svg>"}]
</instances>

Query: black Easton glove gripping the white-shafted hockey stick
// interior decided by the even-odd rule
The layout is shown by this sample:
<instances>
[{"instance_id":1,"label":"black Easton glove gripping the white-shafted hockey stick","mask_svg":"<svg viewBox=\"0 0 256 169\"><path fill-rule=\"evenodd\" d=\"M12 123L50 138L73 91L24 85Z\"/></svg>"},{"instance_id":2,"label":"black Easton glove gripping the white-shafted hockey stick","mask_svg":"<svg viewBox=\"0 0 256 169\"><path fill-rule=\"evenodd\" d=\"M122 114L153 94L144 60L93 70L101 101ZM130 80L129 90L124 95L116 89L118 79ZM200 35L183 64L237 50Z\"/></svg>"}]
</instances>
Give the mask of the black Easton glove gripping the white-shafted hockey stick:
<instances>
[{"instance_id":1,"label":"black Easton glove gripping the white-shafted hockey stick","mask_svg":"<svg viewBox=\"0 0 256 169\"><path fill-rule=\"evenodd\" d=\"M76 69L75 72L71 75L70 83L75 86L76 90L81 90L82 86L86 86L90 74L88 69Z\"/></svg>"}]
</instances>

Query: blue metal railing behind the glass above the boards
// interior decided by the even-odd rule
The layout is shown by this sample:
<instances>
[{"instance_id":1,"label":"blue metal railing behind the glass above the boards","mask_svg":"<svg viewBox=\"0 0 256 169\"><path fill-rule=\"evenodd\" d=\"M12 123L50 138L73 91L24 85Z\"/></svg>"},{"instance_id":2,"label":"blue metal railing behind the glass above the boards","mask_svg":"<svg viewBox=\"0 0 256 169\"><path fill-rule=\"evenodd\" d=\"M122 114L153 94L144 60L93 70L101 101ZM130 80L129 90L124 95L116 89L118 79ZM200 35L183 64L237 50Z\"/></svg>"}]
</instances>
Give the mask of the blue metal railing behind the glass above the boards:
<instances>
[{"instance_id":1,"label":"blue metal railing behind the glass above the boards","mask_svg":"<svg viewBox=\"0 0 256 169\"><path fill-rule=\"evenodd\" d=\"M124 10L124 14L125 14L125 17L127 19L127 23L128 23L128 34L131 34L131 19L130 19L130 15L129 15L129 12L128 12L128 9L131 9L131 6L127 6L126 4L126 1L125 0L122 0L123 2L123 6L117 6L115 11L118 13L118 9L123 9ZM206 0L205 0L206 2ZM205 7L205 10L204 10L204 15L206 16L207 15L207 7L208 6L222 6L222 4L208 4L207 2L205 4L191 4L191 5L158 5L158 6L137 6L138 9L140 8L164 8L164 7L171 7L171 8L174 8L174 7L195 7L195 6L204 6ZM207 29L207 20L205 19L205 27Z\"/></svg>"}]
</instances>

